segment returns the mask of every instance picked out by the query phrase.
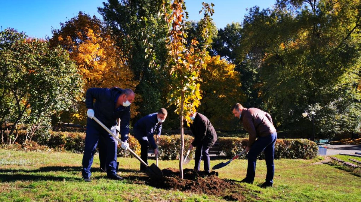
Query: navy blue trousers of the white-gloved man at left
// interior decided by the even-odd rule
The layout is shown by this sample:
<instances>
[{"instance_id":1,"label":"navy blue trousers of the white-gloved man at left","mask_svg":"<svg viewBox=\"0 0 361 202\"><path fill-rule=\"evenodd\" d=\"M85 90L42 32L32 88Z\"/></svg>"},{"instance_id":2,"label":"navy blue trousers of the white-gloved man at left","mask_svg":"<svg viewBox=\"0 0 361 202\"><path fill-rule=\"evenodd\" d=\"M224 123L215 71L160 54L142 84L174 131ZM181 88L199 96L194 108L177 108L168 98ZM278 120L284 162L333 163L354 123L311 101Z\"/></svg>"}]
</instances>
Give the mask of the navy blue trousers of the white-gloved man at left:
<instances>
[{"instance_id":1,"label":"navy blue trousers of the white-gloved man at left","mask_svg":"<svg viewBox=\"0 0 361 202\"><path fill-rule=\"evenodd\" d=\"M105 166L106 173L108 176L116 175L116 166L117 166L117 144L112 135L108 134L106 130L101 128L101 126L97 126L97 123L87 119L87 132L85 136L85 148L83 154L83 169L82 175L83 178L90 178L91 172L90 168L93 164L93 158L96 146L98 144L99 139L104 140L105 145ZM104 153L103 153L104 154Z\"/></svg>"}]
</instances>

